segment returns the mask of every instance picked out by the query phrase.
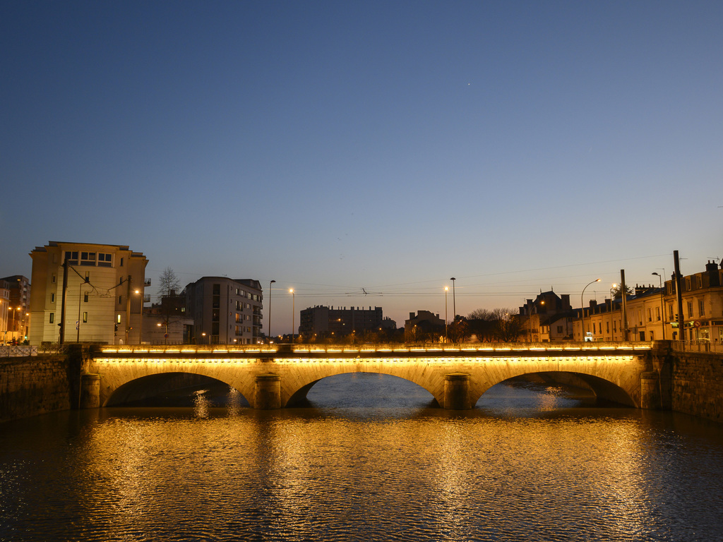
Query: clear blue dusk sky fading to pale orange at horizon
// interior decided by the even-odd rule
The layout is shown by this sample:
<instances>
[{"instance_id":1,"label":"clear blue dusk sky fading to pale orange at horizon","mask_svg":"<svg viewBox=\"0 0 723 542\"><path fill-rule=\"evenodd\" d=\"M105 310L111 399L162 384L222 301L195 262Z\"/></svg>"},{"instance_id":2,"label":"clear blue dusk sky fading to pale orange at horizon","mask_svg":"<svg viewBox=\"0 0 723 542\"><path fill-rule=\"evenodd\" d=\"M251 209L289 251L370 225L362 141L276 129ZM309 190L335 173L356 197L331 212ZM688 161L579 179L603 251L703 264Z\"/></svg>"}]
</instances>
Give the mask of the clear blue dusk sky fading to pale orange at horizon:
<instances>
[{"instance_id":1,"label":"clear blue dusk sky fading to pale orange at horizon","mask_svg":"<svg viewBox=\"0 0 723 542\"><path fill-rule=\"evenodd\" d=\"M154 281L275 279L281 332L291 287L401 325L452 276L468 314L701 271L722 28L721 1L4 1L0 276L128 244Z\"/></svg>"}]
</instances>

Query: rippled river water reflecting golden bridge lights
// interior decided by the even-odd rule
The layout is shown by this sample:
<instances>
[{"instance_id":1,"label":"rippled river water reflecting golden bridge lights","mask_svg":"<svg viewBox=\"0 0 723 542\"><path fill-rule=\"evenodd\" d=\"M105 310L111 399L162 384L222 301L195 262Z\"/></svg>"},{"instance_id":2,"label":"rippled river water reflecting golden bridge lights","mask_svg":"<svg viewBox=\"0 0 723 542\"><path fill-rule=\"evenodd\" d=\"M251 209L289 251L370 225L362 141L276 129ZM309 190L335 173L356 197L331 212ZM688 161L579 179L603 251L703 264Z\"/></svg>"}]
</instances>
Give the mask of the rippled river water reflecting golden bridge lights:
<instances>
[{"instance_id":1,"label":"rippled river water reflecting golden bridge lights","mask_svg":"<svg viewBox=\"0 0 723 542\"><path fill-rule=\"evenodd\" d=\"M0 424L0 539L723 540L715 423L532 384L453 412L367 374L214 395Z\"/></svg>"}]
</instances>

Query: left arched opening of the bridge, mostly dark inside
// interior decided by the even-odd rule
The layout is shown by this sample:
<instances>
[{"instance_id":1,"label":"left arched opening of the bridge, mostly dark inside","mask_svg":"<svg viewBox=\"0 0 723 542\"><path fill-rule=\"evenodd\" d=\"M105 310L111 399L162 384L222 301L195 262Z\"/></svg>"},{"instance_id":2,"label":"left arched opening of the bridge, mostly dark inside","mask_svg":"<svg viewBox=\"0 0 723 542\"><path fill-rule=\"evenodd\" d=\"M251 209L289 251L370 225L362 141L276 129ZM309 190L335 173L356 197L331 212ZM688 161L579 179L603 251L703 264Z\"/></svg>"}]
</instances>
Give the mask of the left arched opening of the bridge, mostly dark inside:
<instances>
[{"instance_id":1,"label":"left arched opening of the bridge, mostly dark inside","mask_svg":"<svg viewBox=\"0 0 723 542\"><path fill-rule=\"evenodd\" d=\"M126 382L108 397L105 406L195 407L202 400L207 407L248 407L240 392L225 382L192 373L150 374Z\"/></svg>"}]
</instances>

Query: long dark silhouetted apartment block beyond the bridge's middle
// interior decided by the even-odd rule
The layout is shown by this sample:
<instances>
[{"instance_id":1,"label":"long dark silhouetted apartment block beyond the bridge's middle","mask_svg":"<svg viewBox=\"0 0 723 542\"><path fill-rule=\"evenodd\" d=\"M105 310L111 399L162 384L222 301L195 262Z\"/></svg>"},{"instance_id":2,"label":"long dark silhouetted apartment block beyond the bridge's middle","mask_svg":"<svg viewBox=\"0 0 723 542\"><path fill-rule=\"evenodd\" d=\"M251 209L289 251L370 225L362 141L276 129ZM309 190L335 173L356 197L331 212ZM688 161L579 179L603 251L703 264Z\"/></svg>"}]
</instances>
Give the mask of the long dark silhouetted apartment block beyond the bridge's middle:
<instances>
[{"instance_id":1,"label":"long dark silhouetted apartment block beyond the bridge's middle","mask_svg":"<svg viewBox=\"0 0 723 542\"><path fill-rule=\"evenodd\" d=\"M301 311L299 335L302 340L325 337L341 338L354 334L361 337L366 332L380 332L396 327L396 323L382 315L382 307L313 306Z\"/></svg>"}]
</instances>

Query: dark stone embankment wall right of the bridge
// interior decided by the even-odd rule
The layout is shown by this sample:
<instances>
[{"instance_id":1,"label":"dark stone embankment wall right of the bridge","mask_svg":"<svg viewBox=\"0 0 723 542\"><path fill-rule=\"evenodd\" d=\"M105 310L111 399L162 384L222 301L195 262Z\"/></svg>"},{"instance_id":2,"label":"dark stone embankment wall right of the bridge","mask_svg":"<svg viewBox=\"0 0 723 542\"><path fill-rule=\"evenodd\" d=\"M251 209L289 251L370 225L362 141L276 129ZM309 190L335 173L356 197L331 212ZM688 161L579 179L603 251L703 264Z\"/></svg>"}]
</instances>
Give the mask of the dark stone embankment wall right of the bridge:
<instances>
[{"instance_id":1,"label":"dark stone embankment wall right of the bridge","mask_svg":"<svg viewBox=\"0 0 723 542\"><path fill-rule=\"evenodd\" d=\"M723 356L675 352L669 360L672 410L723 422Z\"/></svg>"}]
</instances>

